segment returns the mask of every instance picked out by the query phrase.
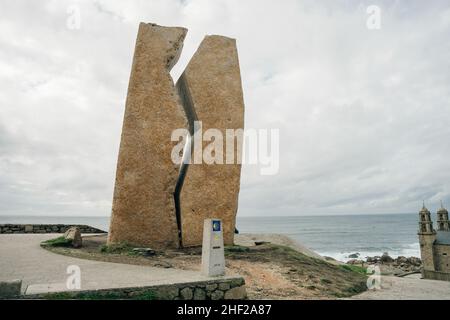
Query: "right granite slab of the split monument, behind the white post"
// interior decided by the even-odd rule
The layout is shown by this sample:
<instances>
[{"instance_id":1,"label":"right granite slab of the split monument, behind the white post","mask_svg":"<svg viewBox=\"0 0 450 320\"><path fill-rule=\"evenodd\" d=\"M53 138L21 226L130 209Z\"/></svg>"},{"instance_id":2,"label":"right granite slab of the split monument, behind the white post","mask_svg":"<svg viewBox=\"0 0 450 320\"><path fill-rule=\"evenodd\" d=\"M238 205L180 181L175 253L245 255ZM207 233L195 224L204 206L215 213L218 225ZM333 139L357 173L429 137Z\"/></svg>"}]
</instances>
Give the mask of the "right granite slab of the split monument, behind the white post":
<instances>
[{"instance_id":1,"label":"right granite slab of the split monument, behind the white post","mask_svg":"<svg viewBox=\"0 0 450 320\"><path fill-rule=\"evenodd\" d=\"M216 35L205 37L178 80L177 88L191 132L194 120L202 122L203 132L218 129L224 138L226 129L244 128L244 101L234 39ZM235 141L235 156L238 142ZM209 143L203 142L202 149ZM194 149L195 145L192 160L196 157ZM202 244L203 221L209 218L222 220L224 242L233 244L241 165L237 159L233 164L226 164L225 151L223 153L224 164L191 161L187 169L180 193L183 246ZM222 154L219 152L218 156Z\"/></svg>"}]
</instances>

